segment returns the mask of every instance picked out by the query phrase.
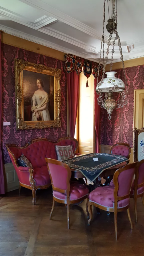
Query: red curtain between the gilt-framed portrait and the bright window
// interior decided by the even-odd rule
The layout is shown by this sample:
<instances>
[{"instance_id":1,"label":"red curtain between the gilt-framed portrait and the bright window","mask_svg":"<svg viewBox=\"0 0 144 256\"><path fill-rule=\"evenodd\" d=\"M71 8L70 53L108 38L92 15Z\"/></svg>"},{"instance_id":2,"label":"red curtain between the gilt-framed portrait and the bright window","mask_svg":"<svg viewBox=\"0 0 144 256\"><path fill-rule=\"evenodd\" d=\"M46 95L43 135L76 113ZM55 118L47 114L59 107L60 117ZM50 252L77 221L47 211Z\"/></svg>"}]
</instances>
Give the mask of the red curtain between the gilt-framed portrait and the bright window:
<instances>
[{"instance_id":1,"label":"red curtain between the gilt-framed portrait and the bright window","mask_svg":"<svg viewBox=\"0 0 144 256\"><path fill-rule=\"evenodd\" d=\"M79 75L75 71L67 74L70 136L74 138L78 108Z\"/></svg>"}]
</instances>

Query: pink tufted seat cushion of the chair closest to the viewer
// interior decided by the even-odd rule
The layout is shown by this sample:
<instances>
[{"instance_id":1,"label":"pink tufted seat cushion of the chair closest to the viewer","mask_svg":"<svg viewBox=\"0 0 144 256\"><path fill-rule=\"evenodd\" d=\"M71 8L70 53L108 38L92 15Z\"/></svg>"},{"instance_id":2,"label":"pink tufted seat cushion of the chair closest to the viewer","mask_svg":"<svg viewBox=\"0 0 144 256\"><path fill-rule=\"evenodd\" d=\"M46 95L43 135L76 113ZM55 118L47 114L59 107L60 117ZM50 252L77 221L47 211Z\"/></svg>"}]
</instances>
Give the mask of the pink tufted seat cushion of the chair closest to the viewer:
<instances>
[{"instance_id":1,"label":"pink tufted seat cushion of the chair closest to the viewer","mask_svg":"<svg viewBox=\"0 0 144 256\"><path fill-rule=\"evenodd\" d=\"M103 186L98 187L95 190L91 191L89 194L89 199L96 204L101 206L114 208L114 187L112 186ZM123 208L129 204L129 198L119 200L118 208Z\"/></svg>"}]
</instances>

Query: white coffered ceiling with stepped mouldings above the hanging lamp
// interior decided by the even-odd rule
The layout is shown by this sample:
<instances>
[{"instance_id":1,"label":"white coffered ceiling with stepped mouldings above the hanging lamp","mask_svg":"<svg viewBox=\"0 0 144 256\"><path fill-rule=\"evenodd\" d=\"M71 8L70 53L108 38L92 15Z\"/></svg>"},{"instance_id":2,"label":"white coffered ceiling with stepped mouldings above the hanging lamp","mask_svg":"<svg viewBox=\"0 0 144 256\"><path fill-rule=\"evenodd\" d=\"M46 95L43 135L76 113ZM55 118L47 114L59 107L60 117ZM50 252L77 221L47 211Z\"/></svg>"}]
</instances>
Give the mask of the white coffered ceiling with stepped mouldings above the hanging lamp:
<instances>
[{"instance_id":1,"label":"white coffered ceiling with stepped mouldings above the hanging lamp","mask_svg":"<svg viewBox=\"0 0 144 256\"><path fill-rule=\"evenodd\" d=\"M111 6L111 1L108 2ZM104 0L1 0L0 30L97 61L101 46L103 4ZM143 57L144 0L117 0L117 9L117 29L124 59ZM106 5L105 25L107 20ZM105 28L106 42L108 36ZM116 42L114 62L119 60Z\"/></svg>"}]
</instances>

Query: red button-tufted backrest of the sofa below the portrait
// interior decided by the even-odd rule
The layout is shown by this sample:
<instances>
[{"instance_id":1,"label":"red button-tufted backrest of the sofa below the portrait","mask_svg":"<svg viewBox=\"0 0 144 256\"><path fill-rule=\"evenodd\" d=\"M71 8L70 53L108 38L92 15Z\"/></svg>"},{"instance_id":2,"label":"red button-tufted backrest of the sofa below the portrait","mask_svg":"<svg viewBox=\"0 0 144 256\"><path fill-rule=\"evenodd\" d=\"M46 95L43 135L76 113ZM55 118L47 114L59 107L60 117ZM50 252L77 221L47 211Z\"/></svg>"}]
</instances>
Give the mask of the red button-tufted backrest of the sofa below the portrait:
<instances>
[{"instance_id":1,"label":"red button-tufted backrest of the sofa below the portrait","mask_svg":"<svg viewBox=\"0 0 144 256\"><path fill-rule=\"evenodd\" d=\"M46 165L45 157L57 160L55 145L71 145L73 152L75 153L77 142L73 138L61 138L56 143L41 139L34 141L25 147L8 145L8 148L14 154L16 161L17 158L24 154L26 158L31 162L33 168L36 168Z\"/></svg>"}]
</instances>

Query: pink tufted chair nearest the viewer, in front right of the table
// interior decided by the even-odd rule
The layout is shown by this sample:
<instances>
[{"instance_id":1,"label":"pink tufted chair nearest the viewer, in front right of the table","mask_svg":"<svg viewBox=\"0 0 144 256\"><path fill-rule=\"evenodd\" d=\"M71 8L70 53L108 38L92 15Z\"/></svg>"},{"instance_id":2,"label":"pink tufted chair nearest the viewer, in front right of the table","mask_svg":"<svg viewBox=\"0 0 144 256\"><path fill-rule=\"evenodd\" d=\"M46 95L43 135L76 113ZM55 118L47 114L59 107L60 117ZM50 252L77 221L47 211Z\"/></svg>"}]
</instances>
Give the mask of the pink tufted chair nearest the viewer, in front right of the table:
<instances>
[{"instance_id":1,"label":"pink tufted chair nearest the viewer, in front right of the table","mask_svg":"<svg viewBox=\"0 0 144 256\"><path fill-rule=\"evenodd\" d=\"M133 228L129 214L129 198L136 167L137 162L119 168L109 186L98 187L89 194L88 210L90 217L88 225L92 219L92 205L105 211L114 212L116 240L117 212L127 210L131 229Z\"/></svg>"}]
</instances>

